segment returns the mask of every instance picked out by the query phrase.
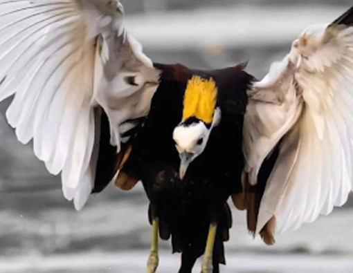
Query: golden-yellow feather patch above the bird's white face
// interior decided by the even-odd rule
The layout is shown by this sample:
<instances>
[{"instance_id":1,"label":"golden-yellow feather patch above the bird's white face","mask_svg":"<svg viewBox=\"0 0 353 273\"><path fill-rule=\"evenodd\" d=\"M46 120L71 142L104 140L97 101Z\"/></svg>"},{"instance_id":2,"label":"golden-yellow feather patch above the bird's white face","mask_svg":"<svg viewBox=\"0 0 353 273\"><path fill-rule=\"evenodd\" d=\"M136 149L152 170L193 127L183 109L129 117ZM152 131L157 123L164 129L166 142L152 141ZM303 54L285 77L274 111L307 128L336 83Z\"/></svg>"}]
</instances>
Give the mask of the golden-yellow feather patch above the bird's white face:
<instances>
[{"instance_id":1,"label":"golden-yellow feather patch above the bird's white face","mask_svg":"<svg viewBox=\"0 0 353 273\"><path fill-rule=\"evenodd\" d=\"M211 79L201 79L193 76L186 86L183 106L183 120L197 117L206 124L213 119L217 101L216 82Z\"/></svg>"}]
</instances>

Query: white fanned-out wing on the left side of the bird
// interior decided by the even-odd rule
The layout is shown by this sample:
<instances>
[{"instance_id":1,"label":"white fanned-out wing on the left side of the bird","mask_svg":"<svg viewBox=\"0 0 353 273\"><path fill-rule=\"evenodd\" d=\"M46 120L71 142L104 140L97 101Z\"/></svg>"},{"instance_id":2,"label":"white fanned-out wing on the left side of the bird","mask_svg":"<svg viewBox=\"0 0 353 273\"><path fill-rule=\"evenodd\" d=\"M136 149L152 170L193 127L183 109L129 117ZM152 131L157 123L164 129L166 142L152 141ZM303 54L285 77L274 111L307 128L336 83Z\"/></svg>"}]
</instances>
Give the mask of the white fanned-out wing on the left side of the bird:
<instances>
[{"instance_id":1,"label":"white fanned-out wing on the left side of the bird","mask_svg":"<svg viewBox=\"0 0 353 273\"><path fill-rule=\"evenodd\" d=\"M119 125L146 115L158 82L152 62L125 31L118 0L0 0L0 100L19 141L33 139L48 171L80 209L96 175L100 116Z\"/></svg>"}]
</instances>

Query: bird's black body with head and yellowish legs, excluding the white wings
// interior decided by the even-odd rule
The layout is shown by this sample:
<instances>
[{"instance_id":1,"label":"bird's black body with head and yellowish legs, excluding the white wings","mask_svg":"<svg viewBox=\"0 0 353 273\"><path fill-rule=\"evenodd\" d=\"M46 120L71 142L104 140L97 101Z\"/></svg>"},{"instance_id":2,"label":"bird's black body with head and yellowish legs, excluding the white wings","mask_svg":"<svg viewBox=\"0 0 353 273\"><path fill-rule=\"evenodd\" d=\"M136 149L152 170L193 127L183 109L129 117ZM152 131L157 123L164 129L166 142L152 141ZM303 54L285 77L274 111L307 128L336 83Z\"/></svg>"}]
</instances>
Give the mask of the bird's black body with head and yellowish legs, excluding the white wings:
<instances>
[{"instance_id":1,"label":"bird's black body with head and yellowish legs, excluding the white wings","mask_svg":"<svg viewBox=\"0 0 353 273\"><path fill-rule=\"evenodd\" d=\"M192 272L201 255L202 272L216 273L226 263L224 242L233 222L227 200L242 191L242 120L253 77L245 64L154 66L163 71L161 83L143 129L130 139L116 184L142 181L153 238L171 239L172 252L181 252L179 273ZM154 271L156 243L151 250Z\"/></svg>"}]
</instances>

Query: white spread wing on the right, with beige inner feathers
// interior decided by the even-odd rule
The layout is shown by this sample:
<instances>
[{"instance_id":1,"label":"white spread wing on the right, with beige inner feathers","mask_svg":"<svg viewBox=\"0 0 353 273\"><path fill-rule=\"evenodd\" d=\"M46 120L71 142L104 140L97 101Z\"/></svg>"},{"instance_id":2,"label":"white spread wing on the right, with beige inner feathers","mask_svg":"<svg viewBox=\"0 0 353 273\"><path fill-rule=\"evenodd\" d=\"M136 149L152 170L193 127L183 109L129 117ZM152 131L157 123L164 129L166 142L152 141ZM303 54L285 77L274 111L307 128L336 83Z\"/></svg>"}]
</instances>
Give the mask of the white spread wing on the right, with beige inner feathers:
<instances>
[{"instance_id":1,"label":"white spread wing on the right, with beige inner feathers","mask_svg":"<svg viewBox=\"0 0 353 273\"><path fill-rule=\"evenodd\" d=\"M249 92L258 98L249 104L244 127L251 184L278 148L256 234L298 229L347 201L353 172L353 8L328 26L305 30L283 62L277 76L270 72ZM264 91L276 103L266 101Z\"/></svg>"}]
</instances>

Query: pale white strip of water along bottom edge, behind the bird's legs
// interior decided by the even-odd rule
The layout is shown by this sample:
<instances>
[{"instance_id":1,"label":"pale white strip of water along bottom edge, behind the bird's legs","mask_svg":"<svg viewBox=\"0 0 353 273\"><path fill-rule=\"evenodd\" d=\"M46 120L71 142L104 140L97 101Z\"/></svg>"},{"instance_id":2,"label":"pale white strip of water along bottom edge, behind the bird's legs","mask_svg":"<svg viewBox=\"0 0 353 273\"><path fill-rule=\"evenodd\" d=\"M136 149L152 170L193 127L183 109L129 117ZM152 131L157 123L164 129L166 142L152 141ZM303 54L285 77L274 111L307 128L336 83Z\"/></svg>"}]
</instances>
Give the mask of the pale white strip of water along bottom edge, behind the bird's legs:
<instances>
[{"instance_id":1,"label":"pale white strip of water along bottom edge, behind the bird's legs","mask_svg":"<svg viewBox=\"0 0 353 273\"><path fill-rule=\"evenodd\" d=\"M79 256L57 256L51 258L24 258L21 261L0 263L1 273L140 273L145 272L146 253L95 253ZM174 273L179 268L179 256L162 252L157 272ZM201 260L193 272L200 272ZM308 257L304 255L232 254L227 266L221 265L224 273L350 273L353 260L350 256Z\"/></svg>"}]
</instances>

